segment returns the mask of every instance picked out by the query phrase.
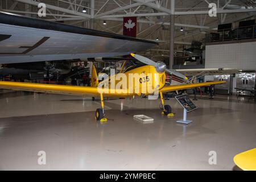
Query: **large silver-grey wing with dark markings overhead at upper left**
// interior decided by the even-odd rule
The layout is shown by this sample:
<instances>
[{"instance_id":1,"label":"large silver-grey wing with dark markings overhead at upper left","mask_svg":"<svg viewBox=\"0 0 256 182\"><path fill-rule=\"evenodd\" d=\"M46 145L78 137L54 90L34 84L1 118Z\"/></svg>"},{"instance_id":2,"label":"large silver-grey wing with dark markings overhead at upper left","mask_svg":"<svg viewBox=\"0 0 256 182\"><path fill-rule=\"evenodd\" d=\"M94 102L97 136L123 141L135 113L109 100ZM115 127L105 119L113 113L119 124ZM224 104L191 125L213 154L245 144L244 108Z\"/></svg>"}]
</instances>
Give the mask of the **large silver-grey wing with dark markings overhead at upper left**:
<instances>
[{"instance_id":1,"label":"large silver-grey wing with dark markings overhead at upper left","mask_svg":"<svg viewBox=\"0 0 256 182\"><path fill-rule=\"evenodd\" d=\"M156 44L0 12L0 64L122 56Z\"/></svg>"}]
</instances>

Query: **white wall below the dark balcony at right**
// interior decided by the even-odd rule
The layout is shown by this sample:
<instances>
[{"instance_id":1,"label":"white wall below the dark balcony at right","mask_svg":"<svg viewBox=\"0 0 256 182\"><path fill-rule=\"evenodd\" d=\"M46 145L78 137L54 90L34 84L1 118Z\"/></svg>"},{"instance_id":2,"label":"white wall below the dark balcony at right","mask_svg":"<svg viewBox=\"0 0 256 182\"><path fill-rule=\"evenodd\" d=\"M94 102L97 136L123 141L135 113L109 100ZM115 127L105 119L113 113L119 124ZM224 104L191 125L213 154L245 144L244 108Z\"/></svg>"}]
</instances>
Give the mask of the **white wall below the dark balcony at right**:
<instances>
[{"instance_id":1,"label":"white wall below the dark balcony at right","mask_svg":"<svg viewBox=\"0 0 256 182\"><path fill-rule=\"evenodd\" d=\"M205 68L256 70L256 42L205 47Z\"/></svg>"}]
</instances>

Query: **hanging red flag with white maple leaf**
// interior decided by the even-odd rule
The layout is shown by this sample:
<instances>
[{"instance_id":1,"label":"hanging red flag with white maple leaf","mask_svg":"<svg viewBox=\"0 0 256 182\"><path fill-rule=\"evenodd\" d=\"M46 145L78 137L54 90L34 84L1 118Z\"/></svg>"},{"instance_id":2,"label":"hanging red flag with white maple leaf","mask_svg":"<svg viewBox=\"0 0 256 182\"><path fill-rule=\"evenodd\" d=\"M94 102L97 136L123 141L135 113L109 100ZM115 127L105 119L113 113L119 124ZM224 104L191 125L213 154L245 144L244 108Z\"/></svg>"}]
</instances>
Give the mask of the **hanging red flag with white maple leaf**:
<instances>
[{"instance_id":1,"label":"hanging red flag with white maple leaf","mask_svg":"<svg viewBox=\"0 0 256 182\"><path fill-rule=\"evenodd\" d=\"M123 35L137 36L137 17L123 17Z\"/></svg>"}]
</instances>

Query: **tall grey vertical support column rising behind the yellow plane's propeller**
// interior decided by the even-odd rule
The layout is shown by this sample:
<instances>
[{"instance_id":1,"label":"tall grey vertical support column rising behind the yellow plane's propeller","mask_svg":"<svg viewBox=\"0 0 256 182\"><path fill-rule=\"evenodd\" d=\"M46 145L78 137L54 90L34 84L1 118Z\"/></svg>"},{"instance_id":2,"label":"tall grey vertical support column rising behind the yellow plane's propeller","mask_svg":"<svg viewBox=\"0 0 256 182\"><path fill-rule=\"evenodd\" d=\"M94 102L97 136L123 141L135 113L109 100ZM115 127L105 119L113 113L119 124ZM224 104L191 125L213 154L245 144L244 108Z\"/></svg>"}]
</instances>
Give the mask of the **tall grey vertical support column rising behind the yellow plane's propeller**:
<instances>
[{"instance_id":1,"label":"tall grey vertical support column rising behind the yellow plane's propeller","mask_svg":"<svg viewBox=\"0 0 256 182\"><path fill-rule=\"evenodd\" d=\"M174 24L175 24L175 0L171 0L171 15L170 15L170 60L169 68L172 69L174 64Z\"/></svg>"}]
</instances>

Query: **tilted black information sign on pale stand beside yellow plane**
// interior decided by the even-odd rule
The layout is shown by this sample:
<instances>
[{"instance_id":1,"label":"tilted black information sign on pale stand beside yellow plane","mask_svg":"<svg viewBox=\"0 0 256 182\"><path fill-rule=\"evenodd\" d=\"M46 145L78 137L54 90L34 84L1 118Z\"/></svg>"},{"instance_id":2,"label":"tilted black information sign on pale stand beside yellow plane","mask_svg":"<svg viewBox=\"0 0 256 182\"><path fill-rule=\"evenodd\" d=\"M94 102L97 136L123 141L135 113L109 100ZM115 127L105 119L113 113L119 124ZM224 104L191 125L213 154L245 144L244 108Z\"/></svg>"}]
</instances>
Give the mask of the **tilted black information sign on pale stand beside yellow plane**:
<instances>
[{"instance_id":1,"label":"tilted black information sign on pale stand beside yellow plane","mask_svg":"<svg viewBox=\"0 0 256 182\"><path fill-rule=\"evenodd\" d=\"M195 104L193 104L193 102L186 95L176 96L175 98L181 104L181 106L183 106L183 108L184 108L183 119L180 119L177 122L185 123L185 124L191 123L192 121L187 120L187 113L191 112L192 110L197 109L197 107L195 106Z\"/></svg>"}]
</instances>

